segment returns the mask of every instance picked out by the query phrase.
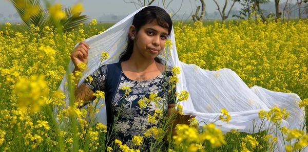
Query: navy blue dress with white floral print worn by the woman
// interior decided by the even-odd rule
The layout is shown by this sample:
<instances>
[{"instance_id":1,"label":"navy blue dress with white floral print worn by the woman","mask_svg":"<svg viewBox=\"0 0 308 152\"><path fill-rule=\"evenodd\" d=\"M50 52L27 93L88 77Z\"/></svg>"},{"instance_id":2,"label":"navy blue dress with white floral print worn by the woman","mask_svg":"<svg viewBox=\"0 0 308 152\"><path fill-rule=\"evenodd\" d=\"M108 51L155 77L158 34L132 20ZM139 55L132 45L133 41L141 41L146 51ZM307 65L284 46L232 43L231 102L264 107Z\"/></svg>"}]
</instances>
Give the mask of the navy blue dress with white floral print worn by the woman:
<instances>
[{"instance_id":1,"label":"navy blue dress with white floral print worn by the woman","mask_svg":"<svg viewBox=\"0 0 308 152\"><path fill-rule=\"evenodd\" d=\"M107 72L108 64L106 64L90 75L93 78L91 82L86 79L84 83L94 92L97 90L105 91L107 84L117 88L114 95L105 94L107 117L112 117L112 121L109 124L107 122L107 126L113 127L113 140L119 139L123 144L132 146L131 139L133 136L142 136L148 128L156 126L156 124L148 122L148 115L153 115L155 110L158 109L167 112L168 103L174 103L174 97L168 93L168 90L171 89L171 85L168 83L169 77L172 76L171 67L168 67L167 70L153 79L136 81L124 75L120 62L114 64L118 64L119 70L121 70L119 82L107 81L109 73ZM122 90L124 86L126 88L128 86L130 91ZM157 94L161 99L150 101L146 106L140 107L138 101L149 98L150 94ZM113 97L107 101L107 96ZM108 109L111 114L108 114Z\"/></svg>"}]
</instances>

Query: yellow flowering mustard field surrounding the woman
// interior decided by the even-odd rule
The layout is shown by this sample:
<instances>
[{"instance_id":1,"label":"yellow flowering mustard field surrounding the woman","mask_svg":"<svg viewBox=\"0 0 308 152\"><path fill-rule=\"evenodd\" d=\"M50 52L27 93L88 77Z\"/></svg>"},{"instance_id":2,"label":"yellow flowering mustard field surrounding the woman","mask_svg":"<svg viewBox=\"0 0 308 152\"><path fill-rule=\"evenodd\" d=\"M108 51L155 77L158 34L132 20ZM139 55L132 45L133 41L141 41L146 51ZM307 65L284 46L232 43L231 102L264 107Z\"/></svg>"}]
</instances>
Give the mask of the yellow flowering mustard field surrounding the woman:
<instances>
[{"instance_id":1,"label":"yellow flowering mustard field surrounding the woman","mask_svg":"<svg viewBox=\"0 0 308 152\"><path fill-rule=\"evenodd\" d=\"M223 134L210 123L200 126L204 131L201 133L193 119L190 126L178 125L173 137L164 128L151 128L133 138L134 146L118 140L107 146L106 126L88 122L84 118L88 109L78 105L64 108L65 95L57 91L75 44L102 32L97 29L97 21L93 19L86 28L80 25L65 33L48 26L39 33L40 29L32 26L30 34L12 30L11 26L6 23L0 31L0 151L139 151L146 136L153 136L157 147L168 141L168 151L275 148L277 137L266 132ZM308 107L307 19L296 23L231 21L227 26L217 22L209 26L178 23L174 29L181 61L207 70L232 69L249 87L296 93L302 99L299 106ZM97 96L104 98L103 93ZM287 112L277 108L260 112L260 119L267 118L277 125L285 117ZM158 117L151 118L155 121ZM232 118L222 110L221 119ZM308 145L304 131L279 129L285 137L286 151L299 151Z\"/></svg>"}]
</instances>

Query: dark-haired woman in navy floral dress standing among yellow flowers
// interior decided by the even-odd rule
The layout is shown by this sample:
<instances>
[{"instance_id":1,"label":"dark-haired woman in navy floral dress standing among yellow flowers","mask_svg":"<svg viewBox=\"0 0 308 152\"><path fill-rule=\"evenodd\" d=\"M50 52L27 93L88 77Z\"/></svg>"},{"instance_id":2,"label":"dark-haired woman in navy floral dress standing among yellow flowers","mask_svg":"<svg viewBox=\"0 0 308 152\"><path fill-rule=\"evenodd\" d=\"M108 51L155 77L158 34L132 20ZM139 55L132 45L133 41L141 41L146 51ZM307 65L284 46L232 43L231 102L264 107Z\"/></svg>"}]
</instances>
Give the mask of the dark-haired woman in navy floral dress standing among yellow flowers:
<instances>
[{"instance_id":1,"label":"dark-haired woman in navy floral dress standing among yellow flowers","mask_svg":"<svg viewBox=\"0 0 308 152\"><path fill-rule=\"evenodd\" d=\"M156 126L148 122L148 115L153 115L160 107L164 107L164 112L168 111L169 115L174 111L174 97L168 93L172 86L167 82L167 77L172 76L171 67L166 67L158 57L171 29L171 18L164 9L144 8L134 15L128 45L119 62L99 67L89 76L93 80L87 78L75 89L75 102L91 101L95 91L105 92L109 132L113 129L114 138L127 145L132 146L133 136L142 135L145 129ZM84 41L73 49L73 73L79 71L79 63L88 62L88 49L90 46ZM131 91L125 93L124 86L129 86ZM150 94L157 94L162 100L141 107L138 101L149 98ZM183 119L186 121L189 116Z\"/></svg>"}]
</instances>

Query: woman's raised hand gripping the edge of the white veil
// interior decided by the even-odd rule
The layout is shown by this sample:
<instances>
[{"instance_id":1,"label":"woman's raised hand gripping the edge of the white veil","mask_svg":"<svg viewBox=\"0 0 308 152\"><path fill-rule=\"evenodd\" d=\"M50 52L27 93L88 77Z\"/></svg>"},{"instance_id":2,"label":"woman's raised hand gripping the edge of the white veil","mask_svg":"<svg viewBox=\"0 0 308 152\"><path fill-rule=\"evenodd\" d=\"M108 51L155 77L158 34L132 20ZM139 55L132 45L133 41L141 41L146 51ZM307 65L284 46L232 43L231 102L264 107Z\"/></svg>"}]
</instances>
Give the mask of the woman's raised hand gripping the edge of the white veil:
<instances>
[{"instance_id":1,"label":"woman's raised hand gripping the edge of the white veil","mask_svg":"<svg viewBox=\"0 0 308 152\"><path fill-rule=\"evenodd\" d=\"M78 69L77 65L80 62L83 62L86 64L88 63L88 60L89 60L88 50L89 49L90 49L90 46L85 41L81 41L79 45L72 50L71 59L75 65L75 69Z\"/></svg>"}]
</instances>

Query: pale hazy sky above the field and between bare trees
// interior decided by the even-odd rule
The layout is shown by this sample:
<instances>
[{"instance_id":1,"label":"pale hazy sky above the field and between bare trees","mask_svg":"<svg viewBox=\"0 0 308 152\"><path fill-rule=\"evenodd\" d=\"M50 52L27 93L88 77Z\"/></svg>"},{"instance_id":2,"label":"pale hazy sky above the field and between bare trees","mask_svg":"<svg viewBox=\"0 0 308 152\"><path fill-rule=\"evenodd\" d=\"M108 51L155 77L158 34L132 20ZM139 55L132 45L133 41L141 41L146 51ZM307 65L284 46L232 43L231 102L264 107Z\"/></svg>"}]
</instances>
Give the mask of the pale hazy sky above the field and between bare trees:
<instances>
[{"instance_id":1,"label":"pale hazy sky above the field and between bare trees","mask_svg":"<svg viewBox=\"0 0 308 152\"><path fill-rule=\"evenodd\" d=\"M126 2L131 0L125 0ZM133 0L136 1L136 0ZM230 0L229 0L230 1ZM271 0L274 1L274 0ZM128 15L136 10L136 7L133 4L127 4L124 0L54 0L51 2L60 2L65 7L71 7L72 5L81 2L84 6L83 14L90 16L90 18L97 18L102 15L114 14L114 15ZM156 5L158 3L161 5L161 0L156 0ZM170 2L170 0L167 0ZM218 0L221 7L224 3L222 0ZM284 2L284 1L282 1ZM199 0L173 0L167 10L169 12L175 12L179 10L182 3L182 7L178 14L190 14L192 10L196 9L197 5L200 5ZM217 10L217 7L213 0L205 0L206 12L211 13ZM139 7L139 6L138 6ZM230 4L228 4L228 8ZM274 7L274 6L273 6ZM234 9L239 9L241 6L236 3ZM174 10L174 11L171 11ZM0 14L8 16L9 14L16 13L14 7L8 0L0 0Z\"/></svg>"}]
</instances>

